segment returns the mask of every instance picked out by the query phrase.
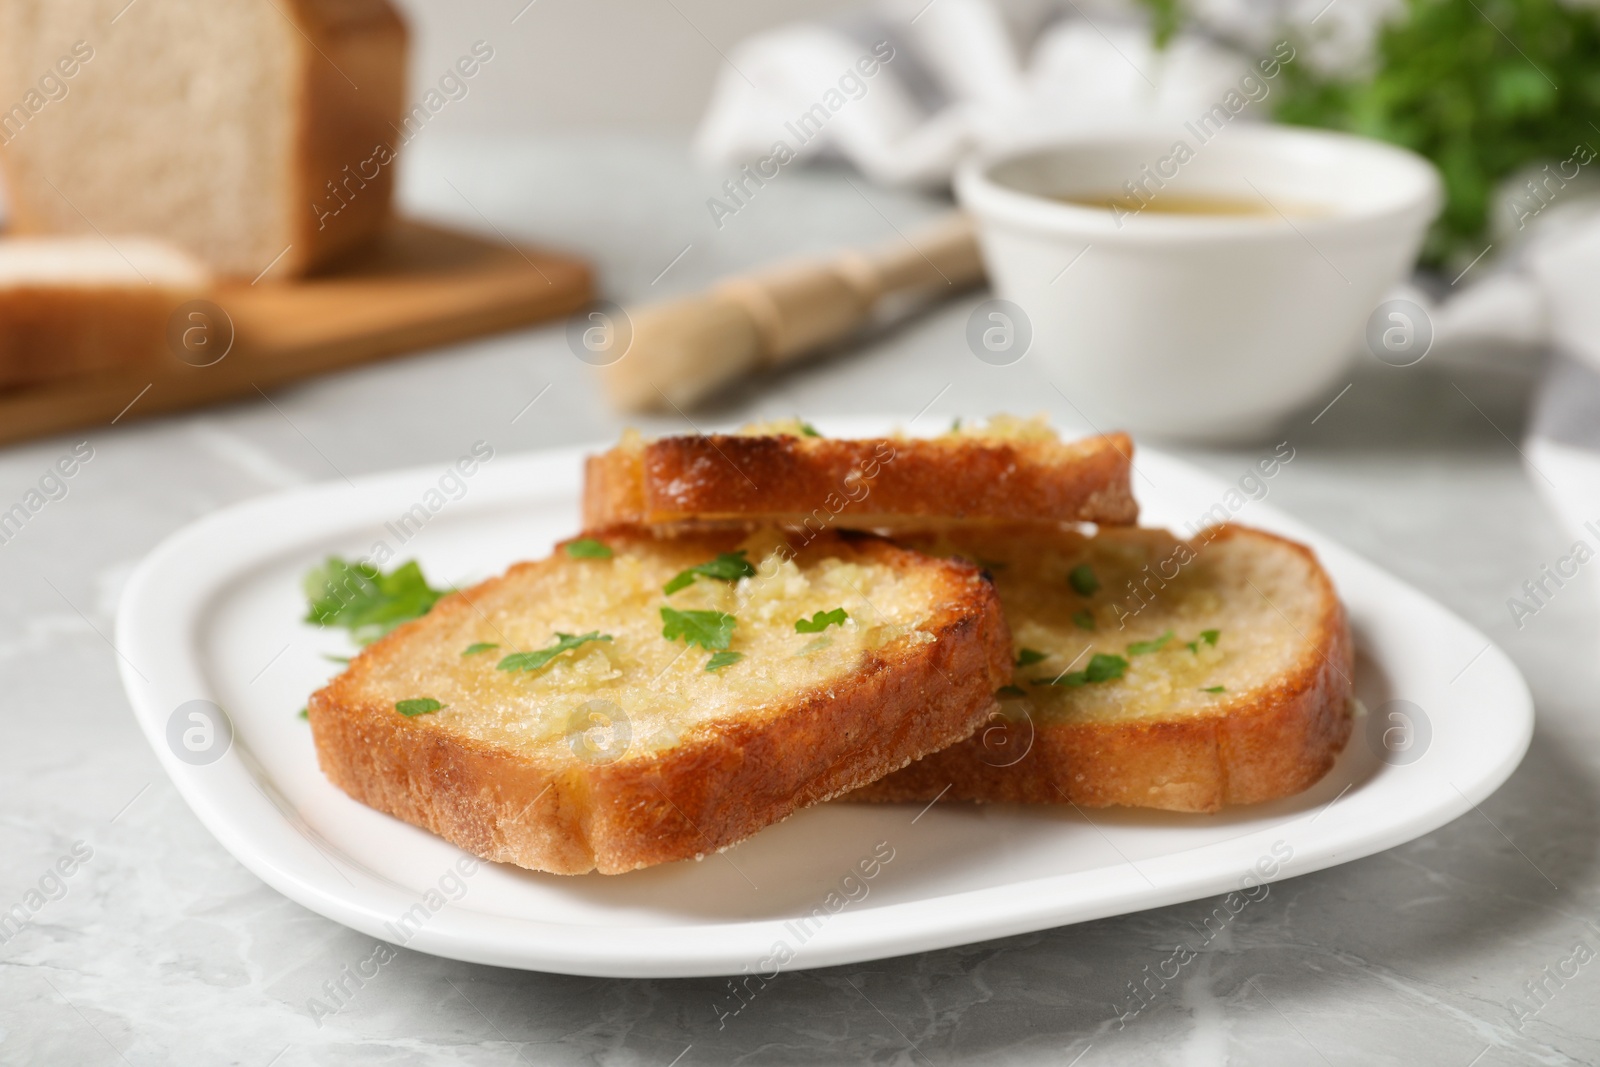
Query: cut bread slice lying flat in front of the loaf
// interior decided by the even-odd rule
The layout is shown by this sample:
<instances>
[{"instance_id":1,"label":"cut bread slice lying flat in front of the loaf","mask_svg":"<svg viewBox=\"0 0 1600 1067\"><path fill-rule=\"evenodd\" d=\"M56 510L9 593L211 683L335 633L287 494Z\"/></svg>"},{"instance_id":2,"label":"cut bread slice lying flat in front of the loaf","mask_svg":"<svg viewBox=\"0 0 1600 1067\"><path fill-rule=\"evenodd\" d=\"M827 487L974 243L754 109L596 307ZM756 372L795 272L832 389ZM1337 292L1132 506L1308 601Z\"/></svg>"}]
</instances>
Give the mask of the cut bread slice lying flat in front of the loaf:
<instances>
[{"instance_id":1,"label":"cut bread slice lying flat in front of the loaf","mask_svg":"<svg viewBox=\"0 0 1600 1067\"><path fill-rule=\"evenodd\" d=\"M0 389L176 358L173 312L208 286L198 261L149 238L0 240Z\"/></svg>"}]
</instances>

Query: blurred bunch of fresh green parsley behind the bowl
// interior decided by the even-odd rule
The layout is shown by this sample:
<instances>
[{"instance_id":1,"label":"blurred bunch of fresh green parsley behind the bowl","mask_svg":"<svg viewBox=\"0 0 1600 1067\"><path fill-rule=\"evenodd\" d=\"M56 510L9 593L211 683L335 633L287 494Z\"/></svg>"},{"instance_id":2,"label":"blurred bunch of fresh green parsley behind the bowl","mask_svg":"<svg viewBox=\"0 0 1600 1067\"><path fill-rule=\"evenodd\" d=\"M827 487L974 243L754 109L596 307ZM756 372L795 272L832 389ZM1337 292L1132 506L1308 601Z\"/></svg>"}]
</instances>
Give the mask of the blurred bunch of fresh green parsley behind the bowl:
<instances>
[{"instance_id":1,"label":"blurred bunch of fresh green parsley behind the bowl","mask_svg":"<svg viewBox=\"0 0 1600 1067\"><path fill-rule=\"evenodd\" d=\"M1405 146L1438 166L1445 211L1422 258L1488 243L1494 187L1530 163L1600 147L1600 14L1562 0L1406 0L1379 32L1373 74L1283 66L1277 117Z\"/></svg>"}]
</instances>

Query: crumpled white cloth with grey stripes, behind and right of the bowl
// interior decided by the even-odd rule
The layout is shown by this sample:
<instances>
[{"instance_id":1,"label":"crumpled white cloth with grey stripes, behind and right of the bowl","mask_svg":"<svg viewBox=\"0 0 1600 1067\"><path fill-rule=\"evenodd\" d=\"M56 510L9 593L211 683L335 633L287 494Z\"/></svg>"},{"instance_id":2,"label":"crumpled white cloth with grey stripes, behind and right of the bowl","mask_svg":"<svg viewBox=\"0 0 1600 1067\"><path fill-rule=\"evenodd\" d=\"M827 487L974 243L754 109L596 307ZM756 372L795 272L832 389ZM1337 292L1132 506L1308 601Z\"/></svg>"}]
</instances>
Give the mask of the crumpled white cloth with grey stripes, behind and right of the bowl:
<instances>
[{"instance_id":1,"label":"crumpled white cloth with grey stripes, behind and right of the bowl","mask_svg":"<svg viewBox=\"0 0 1600 1067\"><path fill-rule=\"evenodd\" d=\"M883 0L738 45L694 149L707 165L738 166L771 160L782 142L784 165L834 157L880 184L938 187L971 152L1192 118L1286 38L1293 62L1358 69L1397 6L1198 0L1198 29L1157 50L1141 10L1114 0ZM858 66L864 56L877 62ZM1240 118L1264 120L1274 91L1258 77ZM1502 358L1554 354L1530 421L1530 477L1600 552L1600 522L1586 526L1600 520L1600 181L1586 184L1587 170L1554 195L1546 182L1544 200L1525 186L1531 174L1507 182L1493 242L1450 294L1434 301L1406 286L1403 296L1432 318L1435 358L1485 347Z\"/></svg>"}]
</instances>

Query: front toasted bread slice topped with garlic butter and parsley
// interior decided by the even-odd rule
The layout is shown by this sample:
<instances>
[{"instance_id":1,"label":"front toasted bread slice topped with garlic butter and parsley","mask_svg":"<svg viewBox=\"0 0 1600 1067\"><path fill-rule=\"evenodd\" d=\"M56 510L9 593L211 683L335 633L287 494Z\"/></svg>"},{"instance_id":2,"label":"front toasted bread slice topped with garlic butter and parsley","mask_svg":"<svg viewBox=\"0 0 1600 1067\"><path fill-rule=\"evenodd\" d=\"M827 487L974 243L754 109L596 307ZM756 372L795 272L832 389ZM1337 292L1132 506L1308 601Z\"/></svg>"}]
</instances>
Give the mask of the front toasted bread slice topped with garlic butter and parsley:
<instances>
[{"instance_id":1,"label":"front toasted bread slice topped with garlic butter and parsley","mask_svg":"<svg viewBox=\"0 0 1600 1067\"><path fill-rule=\"evenodd\" d=\"M722 555L741 549L749 566ZM734 616L731 640L712 613ZM669 629L741 657L718 667L733 656ZM619 873L706 856L968 736L1010 651L992 582L957 560L861 534L795 552L773 531L613 530L440 600L307 712L357 800L485 859Z\"/></svg>"}]
</instances>

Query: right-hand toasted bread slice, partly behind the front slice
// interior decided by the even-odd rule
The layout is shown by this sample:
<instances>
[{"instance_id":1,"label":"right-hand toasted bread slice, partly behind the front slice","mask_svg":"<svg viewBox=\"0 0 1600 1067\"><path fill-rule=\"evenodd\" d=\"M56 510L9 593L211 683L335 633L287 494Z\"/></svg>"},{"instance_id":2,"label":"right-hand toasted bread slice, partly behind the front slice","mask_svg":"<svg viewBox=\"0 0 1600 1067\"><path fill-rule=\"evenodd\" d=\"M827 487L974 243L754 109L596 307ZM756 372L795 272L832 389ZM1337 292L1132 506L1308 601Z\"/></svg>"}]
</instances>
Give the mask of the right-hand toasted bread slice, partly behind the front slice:
<instances>
[{"instance_id":1,"label":"right-hand toasted bread slice, partly behind the front slice","mask_svg":"<svg viewBox=\"0 0 1600 1067\"><path fill-rule=\"evenodd\" d=\"M987 728L854 800L1216 811L1309 787L1350 734L1349 627L1304 545L1213 526L1192 541L963 531L928 547L986 560L1016 677Z\"/></svg>"}]
</instances>

